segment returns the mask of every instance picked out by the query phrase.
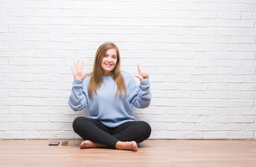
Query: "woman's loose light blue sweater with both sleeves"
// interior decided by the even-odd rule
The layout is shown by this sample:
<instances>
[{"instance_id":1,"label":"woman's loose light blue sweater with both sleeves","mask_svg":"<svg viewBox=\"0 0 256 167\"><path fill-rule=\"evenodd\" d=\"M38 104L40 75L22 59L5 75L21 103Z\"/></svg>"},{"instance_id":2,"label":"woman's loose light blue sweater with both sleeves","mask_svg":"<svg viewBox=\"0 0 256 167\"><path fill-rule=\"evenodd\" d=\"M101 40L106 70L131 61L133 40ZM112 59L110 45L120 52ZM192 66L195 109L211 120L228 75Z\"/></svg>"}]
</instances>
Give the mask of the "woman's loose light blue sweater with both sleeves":
<instances>
[{"instance_id":1,"label":"woman's loose light blue sweater with both sleeves","mask_svg":"<svg viewBox=\"0 0 256 167\"><path fill-rule=\"evenodd\" d=\"M133 106L136 108L146 108L150 104L150 82L145 79L138 85L127 72L122 72L127 87L127 97L123 93L122 97L115 95L117 85L111 76L102 76L103 83L97 90L97 95L91 98L88 95L88 84L91 76L84 81L74 79L73 88L69 97L69 106L73 111L80 111L88 107L89 118L99 120L107 127L118 127L124 122L134 121L130 116Z\"/></svg>"}]
</instances>

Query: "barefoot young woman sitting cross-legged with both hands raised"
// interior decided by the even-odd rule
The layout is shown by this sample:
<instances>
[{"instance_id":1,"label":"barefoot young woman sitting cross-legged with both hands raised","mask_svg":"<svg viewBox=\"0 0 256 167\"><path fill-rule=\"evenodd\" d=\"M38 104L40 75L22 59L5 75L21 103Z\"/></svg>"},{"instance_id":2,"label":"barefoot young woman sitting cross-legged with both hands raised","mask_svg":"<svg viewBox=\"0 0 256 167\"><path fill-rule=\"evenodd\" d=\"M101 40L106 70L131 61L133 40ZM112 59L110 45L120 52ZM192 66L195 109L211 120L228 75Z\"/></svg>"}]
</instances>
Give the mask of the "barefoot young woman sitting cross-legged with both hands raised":
<instances>
[{"instance_id":1,"label":"barefoot young woman sitting cross-legged with both hands raised","mask_svg":"<svg viewBox=\"0 0 256 167\"><path fill-rule=\"evenodd\" d=\"M120 54L112 42L102 44L97 50L92 73L83 73L83 61L74 63L73 88L69 106L80 111L86 106L90 117L78 117L73 129L83 138L80 148L111 147L120 150L138 150L137 143L150 136L147 122L136 121L130 116L133 106L146 108L150 104L148 74L138 67L134 77L120 72Z\"/></svg>"}]
</instances>

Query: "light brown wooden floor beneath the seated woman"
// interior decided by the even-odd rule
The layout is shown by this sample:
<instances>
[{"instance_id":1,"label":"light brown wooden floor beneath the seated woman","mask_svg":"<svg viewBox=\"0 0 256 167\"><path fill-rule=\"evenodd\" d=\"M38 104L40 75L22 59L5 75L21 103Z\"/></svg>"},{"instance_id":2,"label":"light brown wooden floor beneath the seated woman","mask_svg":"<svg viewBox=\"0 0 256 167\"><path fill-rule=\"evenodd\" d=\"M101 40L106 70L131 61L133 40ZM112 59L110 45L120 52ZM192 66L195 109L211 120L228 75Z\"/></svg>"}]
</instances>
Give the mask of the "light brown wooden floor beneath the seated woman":
<instances>
[{"instance_id":1,"label":"light brown wooden floor beneath the seated woman","mask_svg":"<svg viewBox=\"0 0 256 167\"><path fill-rule=\"evenodd\" d=\"M80 150L80 140L66 146L49 146L50 141L0 141L0 166L256 166L256 141L147 140L138 152Z\"/></svg>"}]
</instances>

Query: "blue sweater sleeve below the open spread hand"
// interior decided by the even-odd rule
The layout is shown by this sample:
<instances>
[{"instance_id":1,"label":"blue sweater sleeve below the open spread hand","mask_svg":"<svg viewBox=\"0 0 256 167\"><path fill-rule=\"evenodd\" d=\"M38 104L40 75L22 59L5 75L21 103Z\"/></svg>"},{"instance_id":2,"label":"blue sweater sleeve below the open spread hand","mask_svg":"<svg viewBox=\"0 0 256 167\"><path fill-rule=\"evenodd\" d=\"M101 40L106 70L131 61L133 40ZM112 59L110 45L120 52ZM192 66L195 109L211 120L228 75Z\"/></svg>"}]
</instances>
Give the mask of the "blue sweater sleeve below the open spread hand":
<instances>
[{"instance_id":1,"label":"blue sweater sleeve below the open spread hand","mask_svg":"<svg viewBox=\"0 0 256 167\"><path fill-rule=\"evenodd\" d=\"M85 90L83 81L74 79L71 95L69 96L69 106L73 111L80 111L87 106L85 91L87 90Z\"/></svg>"}]
</instances>

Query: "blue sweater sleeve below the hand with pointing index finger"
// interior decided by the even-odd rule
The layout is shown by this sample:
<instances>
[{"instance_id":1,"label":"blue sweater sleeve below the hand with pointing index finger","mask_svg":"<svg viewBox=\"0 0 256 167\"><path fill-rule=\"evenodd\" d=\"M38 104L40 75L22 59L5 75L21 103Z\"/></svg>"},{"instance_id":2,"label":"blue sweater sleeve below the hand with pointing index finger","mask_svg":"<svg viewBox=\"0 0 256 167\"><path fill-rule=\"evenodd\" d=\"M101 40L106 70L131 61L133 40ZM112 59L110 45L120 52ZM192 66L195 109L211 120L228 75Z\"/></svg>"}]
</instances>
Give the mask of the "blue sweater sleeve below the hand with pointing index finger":
<instances>
[{"instance_id":1,"label":"blue sweater sleeve below the hand with pointing index finger","mask_svg":"<svg viewBox=\"0 0 256 167\"><path fill-rule=\"evenodd\" d=\"M129 87L131 104L136 108L145 109L150 105L151 93L149 79L145 79L138 85L133 78Z\"/></svg>"}]
</instances>

